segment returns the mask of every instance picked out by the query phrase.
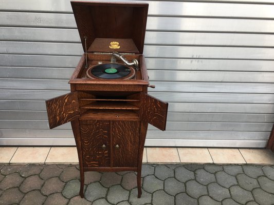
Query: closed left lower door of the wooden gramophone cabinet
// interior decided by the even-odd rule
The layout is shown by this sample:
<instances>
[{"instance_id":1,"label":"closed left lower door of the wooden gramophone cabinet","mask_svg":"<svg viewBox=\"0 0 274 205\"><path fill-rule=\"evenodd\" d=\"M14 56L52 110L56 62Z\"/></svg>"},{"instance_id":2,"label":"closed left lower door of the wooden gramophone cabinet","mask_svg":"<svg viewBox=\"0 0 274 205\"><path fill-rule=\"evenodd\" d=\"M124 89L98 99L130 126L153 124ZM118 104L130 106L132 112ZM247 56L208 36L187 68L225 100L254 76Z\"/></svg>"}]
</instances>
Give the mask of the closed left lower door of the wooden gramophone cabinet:
<instances>
[{"instance_id":1,"label":"closed left lower door of the wooden gramophone cabinet","mask_svg":"<svg viewBox=\"0 0 274 205\"><path fill-rule=\"evenodd\" d=\"M80 121L84 167L109 167L109 122Z\"/></svg>"}]
</instances>

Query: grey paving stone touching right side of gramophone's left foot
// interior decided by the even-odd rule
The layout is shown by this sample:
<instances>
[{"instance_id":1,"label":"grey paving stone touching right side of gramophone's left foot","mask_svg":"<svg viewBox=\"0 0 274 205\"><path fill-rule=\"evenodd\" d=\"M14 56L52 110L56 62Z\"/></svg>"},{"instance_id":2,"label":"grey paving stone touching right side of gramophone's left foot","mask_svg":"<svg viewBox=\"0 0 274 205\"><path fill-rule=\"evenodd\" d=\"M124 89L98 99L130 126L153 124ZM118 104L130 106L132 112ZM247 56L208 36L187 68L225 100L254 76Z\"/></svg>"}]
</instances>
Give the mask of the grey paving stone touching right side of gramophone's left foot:
<instances>
[{"instance_id":1,"label":"grey paving stone touching right side of gramophone's left foot","mask_svg":"<svg viewBox=\"0 0 274 205\"><path fill-rule=\"evenodd\" d=\"M99 182L90 183L85 191L85 198L89 201L95 201L99 198L104 198L107 189L104 188Z\"/></svg>"}]
</instances>

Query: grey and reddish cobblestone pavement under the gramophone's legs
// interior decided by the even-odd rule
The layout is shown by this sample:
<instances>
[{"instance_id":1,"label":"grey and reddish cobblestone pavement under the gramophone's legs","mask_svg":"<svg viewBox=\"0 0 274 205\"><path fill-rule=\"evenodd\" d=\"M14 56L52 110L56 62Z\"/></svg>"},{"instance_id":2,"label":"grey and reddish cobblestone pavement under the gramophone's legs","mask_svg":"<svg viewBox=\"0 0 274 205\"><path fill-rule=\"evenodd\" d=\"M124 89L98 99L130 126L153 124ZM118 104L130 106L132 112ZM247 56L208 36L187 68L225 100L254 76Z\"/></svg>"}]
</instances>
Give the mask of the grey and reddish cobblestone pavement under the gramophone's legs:
<instances>
[{"instance_id":1,"label":"grey and reddish cobblestone pavement under the gramophone's legs","mask_svg":"<svg viewBox=\"0 0 274 205\"><path fill-rule=\"evenodd\" d=\"M0 204L274 204L274 166L151 165L136 173L85 173L85 198L78 196L76 165L0 165Z\"/></svg>"}]
</instances>

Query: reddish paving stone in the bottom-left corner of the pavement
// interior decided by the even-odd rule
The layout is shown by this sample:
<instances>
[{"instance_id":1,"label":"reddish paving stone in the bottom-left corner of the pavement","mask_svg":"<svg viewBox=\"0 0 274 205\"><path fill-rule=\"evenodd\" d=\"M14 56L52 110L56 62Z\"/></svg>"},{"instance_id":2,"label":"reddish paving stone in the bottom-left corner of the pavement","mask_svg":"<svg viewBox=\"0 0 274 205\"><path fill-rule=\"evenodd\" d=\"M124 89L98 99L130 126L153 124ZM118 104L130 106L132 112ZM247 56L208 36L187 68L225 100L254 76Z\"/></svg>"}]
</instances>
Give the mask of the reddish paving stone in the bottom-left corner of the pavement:
<instances>
[{"instance_id":1,"label":"reddish paving stone in the bottom-left corner of the pavement","mask_svg":"<svg viewBox=\"0 0 274 205\"><path fill-rule=\"evenodd\" d=\"M0 196L0 205L19 203L23 197L24 194L18 188L9 189Z\"/></svg>"}]
</instances>

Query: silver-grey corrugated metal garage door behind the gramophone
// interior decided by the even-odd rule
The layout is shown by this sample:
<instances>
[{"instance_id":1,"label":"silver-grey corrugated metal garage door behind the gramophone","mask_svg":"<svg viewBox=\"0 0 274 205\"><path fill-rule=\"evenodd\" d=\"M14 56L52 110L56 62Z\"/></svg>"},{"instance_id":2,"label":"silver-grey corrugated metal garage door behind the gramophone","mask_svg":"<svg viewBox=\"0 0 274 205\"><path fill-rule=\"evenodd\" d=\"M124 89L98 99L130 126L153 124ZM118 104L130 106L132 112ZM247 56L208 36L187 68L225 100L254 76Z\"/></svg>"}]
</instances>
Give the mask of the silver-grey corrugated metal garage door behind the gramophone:
<instances>
[{"instance_id":1,"label":"silver-grey corrugated metal garage door behind the gramophone","mask_svg":"<svg viewBox=\"0 0 274 205\"><path fill-rule=\"evenodd\" d=\"M147 146L264 147L274 122L274 1L149 1L150 94L170 103ZM0 0L0 144L74 145L49 130L83 53L68 0Z\"/></svg>"}]
</instances>

